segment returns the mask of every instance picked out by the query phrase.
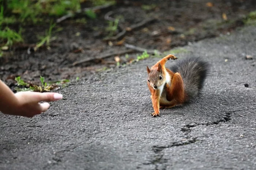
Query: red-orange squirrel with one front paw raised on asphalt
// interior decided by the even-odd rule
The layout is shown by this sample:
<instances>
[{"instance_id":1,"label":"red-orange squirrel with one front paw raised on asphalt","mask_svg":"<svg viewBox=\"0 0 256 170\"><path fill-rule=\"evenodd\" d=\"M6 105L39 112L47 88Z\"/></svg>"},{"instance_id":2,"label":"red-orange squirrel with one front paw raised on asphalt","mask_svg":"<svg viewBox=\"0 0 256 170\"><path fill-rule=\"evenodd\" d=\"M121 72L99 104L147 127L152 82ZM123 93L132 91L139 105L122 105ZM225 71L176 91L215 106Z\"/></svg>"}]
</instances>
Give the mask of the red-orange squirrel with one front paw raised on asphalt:
<instances>
[{"instance_id":1,"label":"red-orange squirrel with one front paw raised on asphalt","mask_svg":"<svg viewBox=\"0 0 256 170\"><path fill-rule=\"evenodd\" d=\"M170 59L176 60L177 57L169 54L151 68L147 66L153 117L160 116L159 109L184 104L197 96L208 75L210 65L199 57L178 60L170 69L165 68L165 63Z\"/></svg>"}]
</instances>

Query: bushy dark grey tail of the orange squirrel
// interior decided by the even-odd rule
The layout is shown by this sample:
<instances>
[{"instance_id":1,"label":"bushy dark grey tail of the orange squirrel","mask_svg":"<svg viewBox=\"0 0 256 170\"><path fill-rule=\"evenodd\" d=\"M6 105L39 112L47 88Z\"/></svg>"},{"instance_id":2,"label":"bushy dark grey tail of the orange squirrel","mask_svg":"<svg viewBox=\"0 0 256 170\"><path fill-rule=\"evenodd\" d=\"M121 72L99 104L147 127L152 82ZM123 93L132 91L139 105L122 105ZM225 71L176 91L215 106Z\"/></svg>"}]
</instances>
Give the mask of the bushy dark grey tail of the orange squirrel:
<instances>
[{"instance_id":1,"label":"bushy dark grey tail of the orange squirrel","mask_svg":"<svg viewBox=\"0 0 256 170\"><path fill-rule=\"evenodd\" d=\"M189 57L177 60L170 70L179 72L184 82L187 101L195 97L204 85L209 71L209 64L199 57Z\"/></svg>"}]
</instances>

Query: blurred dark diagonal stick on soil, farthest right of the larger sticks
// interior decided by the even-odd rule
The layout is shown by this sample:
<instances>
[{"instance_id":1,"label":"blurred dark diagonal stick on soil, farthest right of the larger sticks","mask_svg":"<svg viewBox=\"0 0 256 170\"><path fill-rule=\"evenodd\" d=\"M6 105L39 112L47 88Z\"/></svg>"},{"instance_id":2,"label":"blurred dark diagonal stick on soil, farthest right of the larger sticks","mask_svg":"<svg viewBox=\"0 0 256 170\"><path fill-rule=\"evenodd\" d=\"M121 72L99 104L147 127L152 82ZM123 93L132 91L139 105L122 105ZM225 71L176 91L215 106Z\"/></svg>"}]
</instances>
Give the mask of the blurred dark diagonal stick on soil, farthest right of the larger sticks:
<instances>
[{"instance_id":1,"label":"blurred dark diagonal stick on soil, farthest right of the larger sticks","mask_svg":"<svg viewBox=\"0 0 256 170\"><path fill-rule=\"evenodd\" d=\"M147 23L150 23L151 21L154 21L154 20L156 20L156 19L155 18L153 18L153 19L151 18L151 19L143 20L142 22L140 22L138 24L133 24L133 25L131 25L131 27L127 27L127 28L123 29L123 31L118 33L116 36L105 38L104 40L106 40L106 41L112 40L113 41L113 40L117 40L119 38L122 38L127 33L127 31L132 31L133 29L142 27L143 25L145 25Z\"/></svg>"}]
</instances>

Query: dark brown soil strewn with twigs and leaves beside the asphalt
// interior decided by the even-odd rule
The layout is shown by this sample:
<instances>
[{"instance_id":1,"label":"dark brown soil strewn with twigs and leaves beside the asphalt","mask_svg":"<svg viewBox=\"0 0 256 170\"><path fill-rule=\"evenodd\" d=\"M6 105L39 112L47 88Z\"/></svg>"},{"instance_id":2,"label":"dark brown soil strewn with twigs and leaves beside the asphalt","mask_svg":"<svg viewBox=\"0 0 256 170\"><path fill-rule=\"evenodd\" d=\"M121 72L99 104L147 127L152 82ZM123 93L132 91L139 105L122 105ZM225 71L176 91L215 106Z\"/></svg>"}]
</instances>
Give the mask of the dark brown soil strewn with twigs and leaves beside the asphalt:
<instances>
[{"instance_id":1,"label":"dark brown soil strewn with twigs and leaves beside the asphalt","mask_svg":"<svg viewBox=\"0 0 256 170\"><path fill-rule=\"evenodd\" d=\"M27 26L23 48L16 45L0 58L0 78L14 89L16 76L36 84L40 84L40 75L46 82L86 77L92 72L116 67L115 56L121 57L120 64L130 61L131 56L125 57L125 52L118 55L120 51L128 50L125 43L164 52L189 42L230 33L244 24L245 15L255 10L253 0L119 0L115 6L97 13L96 19L86 18L87 23L78 20L84 17L80 15L57 24L54 30L61 28L62 31L53 33L56 40L50 49L41 48L29 54L26 44L38 42L37 35L44 35L49 25ZM113 36L123 30L126 30L125 34L116 40L104 40L109 35L106 17L119 19L119 27L113 31ZM131 25L150 19L154 20L130 30ZM106 54L112 55L99 59ZM73 64L81 60L86 61Z\"/></svg>"}]
</instances>

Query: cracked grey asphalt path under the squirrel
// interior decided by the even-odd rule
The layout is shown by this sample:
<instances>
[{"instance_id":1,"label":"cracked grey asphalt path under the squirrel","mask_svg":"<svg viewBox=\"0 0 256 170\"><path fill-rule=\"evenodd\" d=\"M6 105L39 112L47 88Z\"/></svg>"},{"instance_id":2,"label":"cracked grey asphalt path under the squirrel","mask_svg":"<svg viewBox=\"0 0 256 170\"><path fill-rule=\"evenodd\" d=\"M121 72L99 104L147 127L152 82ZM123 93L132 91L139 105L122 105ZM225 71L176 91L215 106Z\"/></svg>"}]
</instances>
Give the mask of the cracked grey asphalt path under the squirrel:
<instances>
[{"instance_id":1,"label":"cracked grey asphalt path under the squirrel","mask_svg":"<svg viewBox=\"0 0 256 170\"><path fill-rule=\"evenodd\" d=\"M256 28L184 49L211 64L191 103L151 117L146 66L159 58L90 75L44 114L0 114L0 169L256 169Z\"/></svg>"}]
</instances>

